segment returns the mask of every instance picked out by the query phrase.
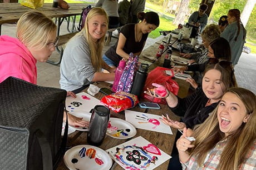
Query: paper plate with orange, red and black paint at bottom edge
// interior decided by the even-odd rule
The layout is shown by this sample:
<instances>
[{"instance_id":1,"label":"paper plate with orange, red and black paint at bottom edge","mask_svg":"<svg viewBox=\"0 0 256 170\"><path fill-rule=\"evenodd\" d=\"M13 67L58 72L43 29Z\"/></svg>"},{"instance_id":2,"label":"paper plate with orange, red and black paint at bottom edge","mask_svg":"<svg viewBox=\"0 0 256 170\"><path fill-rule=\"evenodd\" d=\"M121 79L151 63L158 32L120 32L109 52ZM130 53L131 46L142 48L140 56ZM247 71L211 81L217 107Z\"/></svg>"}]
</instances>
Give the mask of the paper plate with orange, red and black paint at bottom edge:
<instances>
[{"instance_id":1,"label":"paper plate with orange, red and black paint at bottom edge","mask_svg":"<svg viewBox=\"0 0 256 170\"><path fill-rule=\"evenodd\" d=\"M63 159L67 168L71 170L107 170L112 166L112 159L107 152L87 144L68 149Z\"/></svg>"}]
</instances>

